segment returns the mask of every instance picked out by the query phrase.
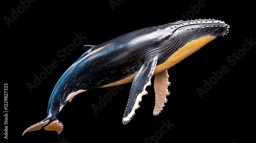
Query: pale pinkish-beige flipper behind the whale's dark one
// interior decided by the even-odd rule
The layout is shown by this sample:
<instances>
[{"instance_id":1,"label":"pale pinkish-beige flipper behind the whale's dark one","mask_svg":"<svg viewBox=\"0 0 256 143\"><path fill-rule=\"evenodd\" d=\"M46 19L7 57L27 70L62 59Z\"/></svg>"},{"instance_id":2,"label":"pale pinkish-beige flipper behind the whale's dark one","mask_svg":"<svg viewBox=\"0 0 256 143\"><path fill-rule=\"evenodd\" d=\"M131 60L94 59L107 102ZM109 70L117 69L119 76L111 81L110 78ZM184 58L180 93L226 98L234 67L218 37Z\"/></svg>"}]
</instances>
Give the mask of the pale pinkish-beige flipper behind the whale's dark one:
<instances>
[{"instance_id":1,"label":"pale pinkish-beige flipper behind the whale's dark one","mask_svg":"<svg viewBox=\"0 0 256 143\"><path fill-rule=\"evenodd\" d=\"M154 89L156 93L156 101L153 115L158 115L161 110L163 110L164 103L167 102L166 96L170 94L170 92L168 92L168 86L170 85L168 77L167 70L164 70L162 73L155 76Z\"/></svg>"}]
</instances>

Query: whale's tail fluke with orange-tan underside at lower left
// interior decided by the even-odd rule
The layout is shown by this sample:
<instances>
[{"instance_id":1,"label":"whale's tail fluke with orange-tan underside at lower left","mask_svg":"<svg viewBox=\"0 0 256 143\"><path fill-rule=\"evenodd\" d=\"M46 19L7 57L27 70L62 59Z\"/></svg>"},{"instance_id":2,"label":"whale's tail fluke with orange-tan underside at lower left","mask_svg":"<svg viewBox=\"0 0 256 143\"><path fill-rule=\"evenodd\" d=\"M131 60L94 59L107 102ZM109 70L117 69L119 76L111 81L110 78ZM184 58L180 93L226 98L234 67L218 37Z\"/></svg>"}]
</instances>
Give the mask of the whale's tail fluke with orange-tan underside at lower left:
<instances>
[{"instance_id":1,"label":"whale's tail fluke with orange-tan underside at lower left","mask_svg":"<svg viewBox=\"0 0 256 143\"><path fill-rule=\"evenodd\" d=\"M60 134L60 132L63 129L63 125L56 117L53 117L51 114L49 114L44 120L30 126L28 129L26 129L23 132L22 136L27 132L40 130L42 128L44 128L45 130L48 130L48 131L56 131L56 132L58 132L58 134Z\"/></svg>"}]
</instances>

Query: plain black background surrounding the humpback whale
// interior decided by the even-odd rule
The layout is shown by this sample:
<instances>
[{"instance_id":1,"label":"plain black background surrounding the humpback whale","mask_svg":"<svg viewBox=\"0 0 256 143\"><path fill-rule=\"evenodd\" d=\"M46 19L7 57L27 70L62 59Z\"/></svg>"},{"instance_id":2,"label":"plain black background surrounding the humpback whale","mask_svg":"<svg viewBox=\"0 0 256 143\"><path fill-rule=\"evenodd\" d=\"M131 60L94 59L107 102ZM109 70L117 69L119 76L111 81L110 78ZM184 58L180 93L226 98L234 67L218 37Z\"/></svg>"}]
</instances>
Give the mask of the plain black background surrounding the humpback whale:
<instances>
[{"instance_id":1,"label":"plain black background surrounding the humpback whale","mask_svg":"<svg viewBox=\"0 0 256 143\"><path fill-rule=\"evenodd\" d=\"M113 10L109 1L35 1L9 27L4 17L11 18L11 9L16 10L21 4L19 1L2 2L2 78L8 83L9 113L8 139L3 134L4 116L0 117L1 140L144 142L159 133L162 122L169 122L174 126L163 133L158 142L248 142L253 137L249 129L255 129L252 127L255 121L252 119L255 114L252 100L255 96L255 44L234 66L227 58L232 53L243 52L245 39L256 41L254 4L205 0L204 7L193 12L193 7L198 8L202 0L119 2ZM47 116L52 89L63 72L83 54L82 45L97 45L140 28L174 22L182 19L182 14L190 14L189 19L224 20L231 28L227 36L211 41L168 69L171 94L158 116L153 116L152 85L146 88L148 95L142 98L132 121L122 125L131 87L128 83L97 114L91 105L98 105L99 97L109 93L107 88L76 96L57 116L64 125L59 135L39 130L22 136L25 129ZM57 53L73 43L74 35L80 33L87 38L61 61ZM44 71L42 66L49 66L53 60L58 67L30 92L26 84L33 83L33 75L38 76ZM212 71L220 70L223 65L228 67L228 73L201 98L197 88L203 88L204 79L209 81Z\"/></svg>"}]
</instances>

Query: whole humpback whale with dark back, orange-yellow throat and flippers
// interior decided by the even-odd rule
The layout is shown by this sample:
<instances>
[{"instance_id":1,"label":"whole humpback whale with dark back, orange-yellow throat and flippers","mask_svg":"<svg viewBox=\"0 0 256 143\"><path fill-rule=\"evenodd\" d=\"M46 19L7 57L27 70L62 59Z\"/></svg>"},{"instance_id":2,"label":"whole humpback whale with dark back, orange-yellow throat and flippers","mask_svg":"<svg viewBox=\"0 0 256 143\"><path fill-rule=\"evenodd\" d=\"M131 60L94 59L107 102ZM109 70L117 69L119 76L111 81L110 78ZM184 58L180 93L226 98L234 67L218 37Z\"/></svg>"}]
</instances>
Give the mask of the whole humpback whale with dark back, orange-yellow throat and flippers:
<instances>
[{"instance_id":1,"label":"whole humpback whale with dark back, orange-yellow throat and flippers","mask_svg":"<svg viewBox=\"0 0 256 143\"><path fill-rule=\"evenodd\" d=\"M167 69L195 53L217 37L227 35L229 25L215 19L179 20L165 25L139 29L98 45L84 45L84 53L56 83L47 117L26 129L45 129L60 133L62 123L56 118L77 94L102 87L132 82L122 123L131 121L139 108L145 88L155 76L155 108L158 115L169 92Z\"/></svg>"}]
</instances>

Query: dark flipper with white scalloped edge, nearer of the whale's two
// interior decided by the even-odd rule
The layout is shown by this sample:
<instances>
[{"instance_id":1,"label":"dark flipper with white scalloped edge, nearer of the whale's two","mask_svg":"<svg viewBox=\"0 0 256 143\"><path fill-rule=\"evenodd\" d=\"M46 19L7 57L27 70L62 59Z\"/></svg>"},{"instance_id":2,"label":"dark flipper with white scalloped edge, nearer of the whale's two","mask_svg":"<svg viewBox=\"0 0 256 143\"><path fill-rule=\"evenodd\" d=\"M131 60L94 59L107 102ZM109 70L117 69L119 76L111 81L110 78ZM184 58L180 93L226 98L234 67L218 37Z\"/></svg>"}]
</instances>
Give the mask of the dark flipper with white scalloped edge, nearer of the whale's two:
<instances>
[{"instance_id":1,"label":"dark flipper with white scalloped edge, nearer of the whale's two","mask_svg":"<svg viewBox=\"0 0 256 143\"><path fill-rule=\"evenodd\" d=\"M139 108L139 102L142 100L142 96L147 94L145 90L148 85L151 85L151 78L154 75L154 70L157 64L157 58L146 61L135 76L127 106L124 111L122 123L127 124L131 121L135 110Z\"/></svg>"}]
</instances>

